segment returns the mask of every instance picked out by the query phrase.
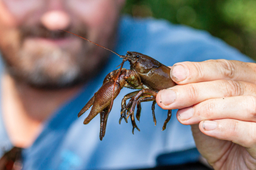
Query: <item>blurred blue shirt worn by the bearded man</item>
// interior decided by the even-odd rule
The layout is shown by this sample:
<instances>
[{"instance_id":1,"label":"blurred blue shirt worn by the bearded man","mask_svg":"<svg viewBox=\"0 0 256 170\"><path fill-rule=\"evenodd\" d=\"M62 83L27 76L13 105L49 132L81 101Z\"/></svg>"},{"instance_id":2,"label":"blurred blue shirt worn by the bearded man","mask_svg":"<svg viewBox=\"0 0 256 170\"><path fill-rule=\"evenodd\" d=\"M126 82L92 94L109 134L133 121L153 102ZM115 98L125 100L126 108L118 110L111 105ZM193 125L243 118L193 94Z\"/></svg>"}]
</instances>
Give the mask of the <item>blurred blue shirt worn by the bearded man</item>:
<instances>
[{"instance_id":1,"label":"blurred blue shirt worn by the bearded man","mask_svg":"<svg viewBox=\"0 0 256 170\"><path fill-rule=\"evenodd\" d=\"M237 59L251 62L237 49L227 46L207 32L185 26L172 25L164 20L132 19L123 17L119 23L116 53L135 51L151 56L166 66L182 61L206 59ZM56 110L45 122L43 131L30 148L22 152L24 169L95 169L146 168L155 165L173 165L195 162L196 150L175 155L175 151L195 148L190 126L180 124L173 110L167 129L161 131L167 110L156 106L157 126L154 126L151 102L142 104L140 122L132 134L128 124L119 124L120 104L126 93L123 88L114 101L106 127L106 136L99 140L99 116L84 125L89 110L78 118L78 112L102 86L105 76L121 63L119 56L111 55L109 64L99 76L85 85L81 93ZM125 65L129 68L128 63ZM0 148L11 148L0 114ZM0 155L3 151L0 150Z\"/></svg>"}]
</instances>

